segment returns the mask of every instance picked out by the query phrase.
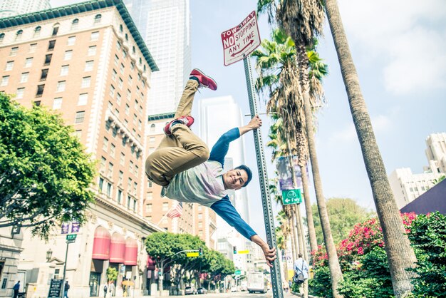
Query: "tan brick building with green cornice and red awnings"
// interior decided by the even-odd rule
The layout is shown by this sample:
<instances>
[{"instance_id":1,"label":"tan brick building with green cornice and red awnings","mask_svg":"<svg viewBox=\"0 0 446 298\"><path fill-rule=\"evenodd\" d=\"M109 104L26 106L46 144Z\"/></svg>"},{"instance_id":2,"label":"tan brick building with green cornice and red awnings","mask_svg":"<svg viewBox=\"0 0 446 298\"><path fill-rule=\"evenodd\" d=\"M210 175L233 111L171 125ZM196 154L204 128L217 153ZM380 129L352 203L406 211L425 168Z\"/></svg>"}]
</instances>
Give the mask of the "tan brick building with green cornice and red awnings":
<instances>
[{"instance_id":1,"label":"tan brick building with green cornice and red awnings","mask_svg":"<svg viewBox=\"0 0 446 298\"><path fill-rule=\"evenodd\" d=\"M144 238L164 231L142 216L152 71L155 60L120 0L0 19L0 91L23 106L61 113L98 160L95 204L69 245L70 296L103 296L109 267L119 273L117 296L124 279L135 282L138 296L149 294L154 274L147 270ZM62 277L66 235L55 232L46 243L28 230L22 234L23 252L12 257L20 260L19 272L1 272L0 278L11 290L21 274L27 297L46 297L48 280Z\"/></svg>"}]
</instances>

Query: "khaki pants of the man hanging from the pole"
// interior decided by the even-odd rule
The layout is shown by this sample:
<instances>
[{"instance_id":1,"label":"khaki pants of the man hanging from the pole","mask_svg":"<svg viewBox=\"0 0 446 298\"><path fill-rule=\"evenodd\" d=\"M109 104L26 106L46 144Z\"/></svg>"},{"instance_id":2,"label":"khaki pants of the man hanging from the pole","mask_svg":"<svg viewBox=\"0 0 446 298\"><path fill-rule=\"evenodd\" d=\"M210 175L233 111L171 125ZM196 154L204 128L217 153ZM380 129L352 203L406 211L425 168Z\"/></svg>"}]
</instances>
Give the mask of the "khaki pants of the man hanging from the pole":
<instances>
[{"instance_id":1,"label":"khaki pants of the man hanging from the pole","mask_svg":"<svg viewBox=\"0 0 446 298\"><path fill-rule=\"evenodd\" d=\"M187 81L175 118L190 115L197 90L197 81ZM186 125L176 124L171 131L172 135L166 135L157 150L145 160L147 177L161 186L168 185L177 173L194 168L209 158L207 145Z\"/></svg>"}]
</instances>

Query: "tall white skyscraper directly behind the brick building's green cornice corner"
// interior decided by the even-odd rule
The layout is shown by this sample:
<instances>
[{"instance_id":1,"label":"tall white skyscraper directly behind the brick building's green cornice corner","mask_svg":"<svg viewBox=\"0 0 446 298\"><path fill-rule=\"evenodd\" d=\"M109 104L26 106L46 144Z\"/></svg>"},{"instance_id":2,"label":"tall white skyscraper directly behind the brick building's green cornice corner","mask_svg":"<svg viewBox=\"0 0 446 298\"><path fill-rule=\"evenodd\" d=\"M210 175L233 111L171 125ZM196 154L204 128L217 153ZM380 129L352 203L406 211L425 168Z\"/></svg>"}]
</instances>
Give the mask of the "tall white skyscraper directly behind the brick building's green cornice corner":
<instances>
[{"instance_id":1,"label":"tall white skyscraper directly behind the brick building's green cornice corner","mask_svg":"<svg viewBox=\"0 0 446 298\"><path fill-rule=\"evenodd\" d=\"M125 0L125 4L160 68L152 76L149 114L172 113L191 71L189 0Z\"/></svg>"}]
</instances>

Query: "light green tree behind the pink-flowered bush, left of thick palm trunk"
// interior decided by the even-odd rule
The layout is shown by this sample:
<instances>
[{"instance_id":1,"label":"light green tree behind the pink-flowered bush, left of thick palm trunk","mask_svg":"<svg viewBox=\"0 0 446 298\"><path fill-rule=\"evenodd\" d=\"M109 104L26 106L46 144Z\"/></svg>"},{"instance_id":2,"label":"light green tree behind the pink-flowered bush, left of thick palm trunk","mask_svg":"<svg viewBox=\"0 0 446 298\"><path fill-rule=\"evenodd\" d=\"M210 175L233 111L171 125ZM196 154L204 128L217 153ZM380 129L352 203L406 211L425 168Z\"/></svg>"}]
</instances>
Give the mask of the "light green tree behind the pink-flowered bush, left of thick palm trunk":
<instances>
[{"instance_id":1,"label":"light green tree behind the pink-flowered bush, left of thick palm trunk","mask_svg":"<svg viewBox=\"0 0 446 298\"><path fill-rule=\"evenodd\" d=\"M318 244L323 243L323 235L321 224L318 221L318 207L316 204L311 206L313 210L313 217L315 220L316 237ZM341 197L331 197L327 200L328 217L330 219L331 233L334 242L338 243L348 237L353 227L358 222L364 222L370 217L375 216L375 212L367 210L356 203L355 200Z\"/></svg>"}]
</instances>

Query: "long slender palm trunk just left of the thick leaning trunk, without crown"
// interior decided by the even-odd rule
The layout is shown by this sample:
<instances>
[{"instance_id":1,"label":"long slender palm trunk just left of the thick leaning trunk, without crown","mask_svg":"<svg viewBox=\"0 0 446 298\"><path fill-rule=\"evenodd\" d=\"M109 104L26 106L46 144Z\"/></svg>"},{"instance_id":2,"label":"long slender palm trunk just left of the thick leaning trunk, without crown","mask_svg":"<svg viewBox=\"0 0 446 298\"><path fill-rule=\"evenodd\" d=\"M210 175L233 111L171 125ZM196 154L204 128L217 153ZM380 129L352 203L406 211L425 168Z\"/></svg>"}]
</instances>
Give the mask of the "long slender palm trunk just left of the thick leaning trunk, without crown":
<instances>
[{"instance_id":1,"label":"long slender palm trunk just left of the thick leaning trunk, without crown","mask_svg":"<svg viewBox=\"0 0 446 298\"><path fill-rule=\"evenodd\" d=\"M328 212L325 197L323 197L321 175L319 175L318 157L316 154L316 145L314 143L313 133L313 115L311 113L310 96L308 94L308 56L306 56L305 46L296 45L296 53L298 56L299 71L301 77L302 95L304 96L304 113L306 134L308 138L308 152L310 153L311 170L313 172L314 189L316 190L316 201L318 204L319 217L321 219L321 227L323 232L323 241L328 254L328 267L330 268L331 286L333 289L333 297L342 297L338 294L338 284L343 280L341 266L339 265L336 247L331 235L330 221L328 220Z\"/></svg>"}]
</instances>

